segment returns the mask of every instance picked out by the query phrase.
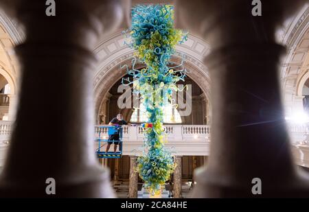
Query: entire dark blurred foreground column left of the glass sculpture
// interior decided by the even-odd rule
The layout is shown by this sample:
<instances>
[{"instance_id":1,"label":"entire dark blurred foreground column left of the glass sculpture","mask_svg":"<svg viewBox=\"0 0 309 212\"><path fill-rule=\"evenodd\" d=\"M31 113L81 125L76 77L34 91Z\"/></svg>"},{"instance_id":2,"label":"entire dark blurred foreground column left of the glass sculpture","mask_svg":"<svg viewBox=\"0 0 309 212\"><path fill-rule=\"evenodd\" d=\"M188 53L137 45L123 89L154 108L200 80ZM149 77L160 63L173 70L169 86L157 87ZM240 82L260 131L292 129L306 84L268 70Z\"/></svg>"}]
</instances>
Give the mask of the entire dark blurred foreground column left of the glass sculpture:
<instances>
[{"instance_id":1,"label":"entire dark blurred foreground column left of the glass sculpture","mask_svg":"<svg viewBox=\"0 0 309 212\"><path fill-rule=\"evenodd\" d=\"M120 2L56 1L56 16L45 14L41 0L0 6L27 35L15 47L21 89L0 196L114 197L93 148L93 48L122 21ZM56 195L45 192L47 178L56 181Z\"/></svg>"}]
</instances>

